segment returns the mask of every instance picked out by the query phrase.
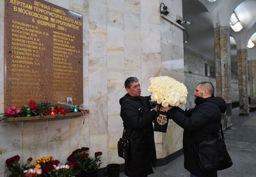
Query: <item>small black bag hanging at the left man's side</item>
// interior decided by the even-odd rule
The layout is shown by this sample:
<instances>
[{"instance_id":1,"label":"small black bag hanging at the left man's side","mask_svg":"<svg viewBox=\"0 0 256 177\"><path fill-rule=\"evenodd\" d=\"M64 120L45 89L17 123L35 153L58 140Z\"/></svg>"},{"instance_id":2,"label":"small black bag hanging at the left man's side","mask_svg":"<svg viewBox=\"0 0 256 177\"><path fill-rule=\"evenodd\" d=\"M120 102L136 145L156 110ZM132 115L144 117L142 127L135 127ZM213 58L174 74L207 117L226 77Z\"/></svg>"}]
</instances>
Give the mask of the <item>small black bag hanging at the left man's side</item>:
<instances>
[{"instance_id":1,"label":"small black bag hanging at the left man's side","mask_svg":"<svg viewBox=\"0 0 256 177\"><path fill-rule=\"evenodd\" d=\"M128 139L124 139L124 133L125 129L123 128L123 135L122 138L119 139L117 142L117 151L118 151L118 156L124 159L129 158L129 141Z\"/></svg>"}]
</instances>

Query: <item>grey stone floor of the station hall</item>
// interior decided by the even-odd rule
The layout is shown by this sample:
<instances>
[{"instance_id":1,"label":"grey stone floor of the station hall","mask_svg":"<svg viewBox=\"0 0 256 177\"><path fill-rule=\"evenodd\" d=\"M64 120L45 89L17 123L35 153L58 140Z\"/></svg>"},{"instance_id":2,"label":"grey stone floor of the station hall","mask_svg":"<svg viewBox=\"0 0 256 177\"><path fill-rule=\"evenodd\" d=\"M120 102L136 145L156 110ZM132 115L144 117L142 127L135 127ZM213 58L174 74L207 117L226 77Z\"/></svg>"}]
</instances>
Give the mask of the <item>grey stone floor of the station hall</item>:
<instances>
[{"instance_id":1,"label":"grey stone floor of the station hall","mask_svg":"<svg viewBox=\"0 0 256 177\"><path fill-rule=\"evenodd\" d=\"M225 142L233 165L218 171L218 177L256 177L256 111L239 116L239 108L232 109L233 126L224 131ZM165 166L157 167L148 177L189 177L183 167L183 155ZM124 173L120 177L126 177Z\"/></svg>"}]
</instances>

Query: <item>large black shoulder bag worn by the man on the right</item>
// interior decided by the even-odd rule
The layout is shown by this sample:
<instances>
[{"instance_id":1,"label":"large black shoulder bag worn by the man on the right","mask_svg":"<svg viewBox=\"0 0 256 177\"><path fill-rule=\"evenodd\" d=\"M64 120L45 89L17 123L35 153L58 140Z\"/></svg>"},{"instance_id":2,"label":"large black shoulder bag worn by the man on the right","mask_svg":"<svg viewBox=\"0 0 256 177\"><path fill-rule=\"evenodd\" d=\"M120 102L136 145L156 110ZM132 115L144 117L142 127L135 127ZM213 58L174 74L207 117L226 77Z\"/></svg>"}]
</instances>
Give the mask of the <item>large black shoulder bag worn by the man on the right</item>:
<instances>
[{"instance_id":1,"label":"large black shoulder bag worn by the man on the right","mask_svg":"<svg viewBox=\"0 0 256 177\"><path fill-rule=\"evenodd\" d=\"M209 133L207 140L194 145L197 152L197 160L202 171L220 171L232 166L232 160L222 137L218 133Z\"/></svg>"}]
</instances>

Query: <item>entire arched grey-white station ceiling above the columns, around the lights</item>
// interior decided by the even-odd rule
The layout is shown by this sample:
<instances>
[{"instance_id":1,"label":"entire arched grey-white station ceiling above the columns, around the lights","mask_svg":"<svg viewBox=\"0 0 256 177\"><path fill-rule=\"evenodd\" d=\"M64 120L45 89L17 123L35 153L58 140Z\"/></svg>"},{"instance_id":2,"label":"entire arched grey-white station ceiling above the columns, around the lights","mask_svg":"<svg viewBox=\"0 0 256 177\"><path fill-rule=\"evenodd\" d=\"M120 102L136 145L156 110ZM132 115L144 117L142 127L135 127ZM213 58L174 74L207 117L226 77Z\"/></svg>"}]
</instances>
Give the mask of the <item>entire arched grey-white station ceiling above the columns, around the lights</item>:
<instances>
[{"instance_id":1,"label":"entire arched grey-white station ceiling above the columns, around the lights","mask_svg":"<svg viewBox=\"0 0 256 177\"><path fill-rule=\"evenodd\" d=\"M213 23L216 22L216 18L219 18L219 21L221 19L230 19L231 13L235 10L244 26L244 29L240 32L233 32L230 29L231 36L235 38L230 38L231 67L232 71L237 73L237 44L241 46L241 43L243 43L243 46L247 46L249 38L256 44L256 0L216 0L212 3L207 0L182 0L182 6L183 20L192 22L192 25L184 26L189 37L188 42L184 43L184 47L212 61L215 61L215 25ZM222 8L222 6L225 8ZM216 13L217 11L222 12ZM218 17L213 17L213 15ZM226 24L226 26L228 25ZM184 38L186 39L186 35L184 35ZM256 50L256 47L252 49Z\"/></svg>"}]
</instances>

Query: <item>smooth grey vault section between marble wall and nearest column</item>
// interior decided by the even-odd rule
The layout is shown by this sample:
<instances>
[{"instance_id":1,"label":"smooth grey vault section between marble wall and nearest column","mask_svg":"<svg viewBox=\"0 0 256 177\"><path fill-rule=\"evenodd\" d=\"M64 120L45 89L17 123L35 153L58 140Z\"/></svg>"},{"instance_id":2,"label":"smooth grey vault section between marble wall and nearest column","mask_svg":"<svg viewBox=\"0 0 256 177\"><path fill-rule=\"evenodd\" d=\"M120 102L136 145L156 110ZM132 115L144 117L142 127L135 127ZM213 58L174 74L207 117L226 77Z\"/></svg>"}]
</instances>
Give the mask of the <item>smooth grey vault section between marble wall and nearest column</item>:
<instances>
[{"instance_id":1,"label":"smooth grey vault section between marble wall and nearest column","mask_svg":"<svg viewBox=\"0 0 256 177\"><path fill-rule=\"evenodd\" d=\"M197 0L182 0L182 6L183 20L192 23L190 26L184 26L188 33L188 43L185 43L184 47L215 60L214 28L210 13Z\"/></svg>"}]
</instances>

